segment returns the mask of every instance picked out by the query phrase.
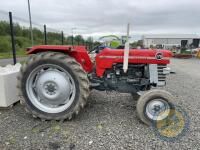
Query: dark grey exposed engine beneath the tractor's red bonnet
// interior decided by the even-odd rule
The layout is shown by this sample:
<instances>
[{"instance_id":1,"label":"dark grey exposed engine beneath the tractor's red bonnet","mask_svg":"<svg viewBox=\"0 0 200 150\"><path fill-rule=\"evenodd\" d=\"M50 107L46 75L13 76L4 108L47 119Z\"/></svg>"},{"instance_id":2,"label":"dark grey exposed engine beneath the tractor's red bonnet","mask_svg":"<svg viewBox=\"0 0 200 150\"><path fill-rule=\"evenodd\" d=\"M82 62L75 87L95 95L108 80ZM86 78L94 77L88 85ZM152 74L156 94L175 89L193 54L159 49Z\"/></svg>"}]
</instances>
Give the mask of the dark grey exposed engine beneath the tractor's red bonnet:
<instances>
[{"instance_id":1,"label":"dark grey exposed engine beneath the tractor's red bonnet","mask_svg":"<svg viewBox=\"0 0 200 150\"><path fill-rule=\"evenodd\" d=\"M126 73L123 71L123 64L113 65L106 69L104 76L99 78L95 73L89 74L91 88L100 91L118 91L122 93L137 93L138 91L149 90L149 69L146 64L129 64Z\"/></svg>"}]
</instances>

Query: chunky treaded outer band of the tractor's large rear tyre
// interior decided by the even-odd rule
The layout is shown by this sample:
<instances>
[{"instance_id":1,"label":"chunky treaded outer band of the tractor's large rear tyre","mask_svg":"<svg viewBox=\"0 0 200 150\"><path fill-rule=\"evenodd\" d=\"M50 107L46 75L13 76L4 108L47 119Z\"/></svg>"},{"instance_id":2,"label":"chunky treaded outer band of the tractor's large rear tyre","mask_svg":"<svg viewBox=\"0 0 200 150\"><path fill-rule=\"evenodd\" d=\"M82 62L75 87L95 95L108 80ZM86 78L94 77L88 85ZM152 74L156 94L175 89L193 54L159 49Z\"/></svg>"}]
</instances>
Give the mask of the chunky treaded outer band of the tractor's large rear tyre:
<instances>
[{"instance_id":1,"label":"chunky treaded outer band of the tractor's large rear tyre","mask_svg":"<svg viewBox=\"0 0 200 150\"><path fill-rule=\"evenodd\" d=\"M54 60L59 60L62 63L68 65L69 68L73 69L73 73L75 74L75 76L78 78L79 81L79 89L80 89L80 96L79 99L75 105L75 107L73 108L72 111L70 111L69 113L66 113L62 116L57 116L57 117L51 117L51 116L47 116L47 115L43 115L41 113L38 113L36 110L32 109L26 102L24 96L23 96L23 90L22 89L22 78L23 78L23 74L26 71L26 69L28 69L28 67L34 63L35 61L39 61L41 59L48 59L50 58L54 59ZM75 68L75 69L74 69ZM89 96L89 81L87 78L87 73L83 70L83 68L81 67L81 65L75 61L74 58L63 54L63 53L59 53L59 52L43 52L43 53L39 53L36 55L31 55L30 59L24 63L20 69L20 75L18 76L18 89L19 89L19 96L21 97L20 103L24 106L25 110L32 114L32 116L34 118L38 117L40 118L42 121L45 120L57 120L57 121L63 121L65 119L71 120L74 116L78 115L80 110L84 108L86 102L87 102L87 98Z\"/></svg>"}]
</instances>

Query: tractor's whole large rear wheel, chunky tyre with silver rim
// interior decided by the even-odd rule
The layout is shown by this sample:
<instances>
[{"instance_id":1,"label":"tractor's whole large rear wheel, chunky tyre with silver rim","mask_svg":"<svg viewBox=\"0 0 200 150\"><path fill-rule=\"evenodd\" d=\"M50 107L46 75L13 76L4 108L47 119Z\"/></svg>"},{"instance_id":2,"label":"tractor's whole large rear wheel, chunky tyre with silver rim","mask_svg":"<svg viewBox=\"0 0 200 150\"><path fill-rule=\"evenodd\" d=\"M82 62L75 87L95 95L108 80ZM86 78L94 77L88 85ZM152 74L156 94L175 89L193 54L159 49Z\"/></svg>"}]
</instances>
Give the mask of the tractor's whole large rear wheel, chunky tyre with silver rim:
<instances>
[{"instance_id":1,"label":"tractor's whole large rear wheel, chunky tyre with silver rim","mask_svg":"<svg viewBox=\"0 0 200 150\"><path fill-rule=\"evenodd\" d=\"M86 104L89 81L81 65L62 53L31 56L18 77L21 104L42 120L71 119Z\"/></svg>"}]
</instances>

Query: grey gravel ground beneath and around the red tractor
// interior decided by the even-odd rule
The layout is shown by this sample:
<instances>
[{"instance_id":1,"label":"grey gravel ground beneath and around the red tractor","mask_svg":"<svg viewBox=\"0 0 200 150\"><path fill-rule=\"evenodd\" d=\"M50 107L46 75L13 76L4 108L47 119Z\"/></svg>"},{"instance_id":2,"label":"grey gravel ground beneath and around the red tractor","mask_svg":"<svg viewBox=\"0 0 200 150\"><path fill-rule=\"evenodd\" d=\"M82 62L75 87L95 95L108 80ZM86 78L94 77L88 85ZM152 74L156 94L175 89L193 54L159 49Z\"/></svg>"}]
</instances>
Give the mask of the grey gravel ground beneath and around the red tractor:
<instances>
[{"instance_id":1,"label":"grey gravel ground beneath and around the red tractor","mask_svg":"<svg viewBox=\"0 0 200 150\"><path fill-rule=\"evenodd\" d=\"M0 110L0 149L200 149L200 60L173 59L164 88L190 116L190 131L174 143L160 140L136 117L130 94L93 91L72 121L41 122L17 104Z\"/></svg>"}]
</instances>

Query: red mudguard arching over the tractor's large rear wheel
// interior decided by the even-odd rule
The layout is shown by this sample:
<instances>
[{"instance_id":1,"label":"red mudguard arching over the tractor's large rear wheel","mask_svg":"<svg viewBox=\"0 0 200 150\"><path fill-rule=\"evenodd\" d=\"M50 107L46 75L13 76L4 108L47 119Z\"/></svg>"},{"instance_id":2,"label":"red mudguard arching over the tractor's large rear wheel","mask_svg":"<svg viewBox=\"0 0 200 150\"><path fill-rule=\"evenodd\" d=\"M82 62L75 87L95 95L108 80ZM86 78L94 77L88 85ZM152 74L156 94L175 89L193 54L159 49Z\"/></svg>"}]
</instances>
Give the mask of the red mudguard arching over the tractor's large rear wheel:
<instances>
[{"instance_id":1,"label":"red mudguard arching over the tractor's large rear wheel","mask_svg":"<svg viewBox=\"0 0 200 150\"><path fill-rule=\"evenodd\" d=\"M65 53L81 64L86 72L91 72L93 64L87 53L85 46L59 46L59 45L39 45L28 50L28 54L36 54L40 52L54 51Z\"/></svg>"}]
</instances>

